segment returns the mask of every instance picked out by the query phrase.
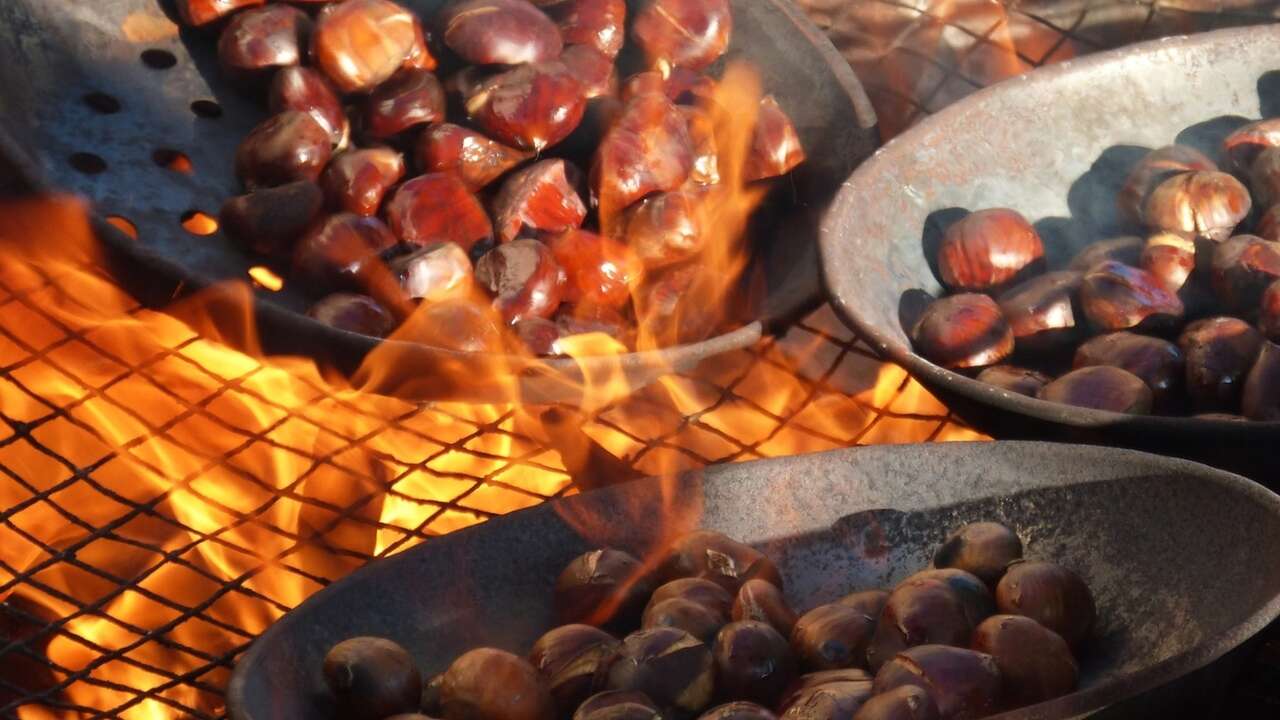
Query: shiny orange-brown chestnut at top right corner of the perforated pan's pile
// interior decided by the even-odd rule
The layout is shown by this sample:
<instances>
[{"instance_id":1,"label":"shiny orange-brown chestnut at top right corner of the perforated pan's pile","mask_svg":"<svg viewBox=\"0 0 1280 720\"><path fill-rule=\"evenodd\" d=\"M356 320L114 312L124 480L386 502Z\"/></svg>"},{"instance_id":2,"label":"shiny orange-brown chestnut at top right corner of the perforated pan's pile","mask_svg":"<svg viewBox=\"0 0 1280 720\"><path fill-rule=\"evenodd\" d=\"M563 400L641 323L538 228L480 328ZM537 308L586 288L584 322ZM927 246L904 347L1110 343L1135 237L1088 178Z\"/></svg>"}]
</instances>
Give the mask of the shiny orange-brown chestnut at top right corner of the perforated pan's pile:
<instances>
[{"instance_id":1,"label":"shiny orange-brown chestnut at top right corner of the perforated pan's pile","mask_svg":"<svg viewBox=\"0 0 1280 720\"><path fill-rule=\"evenodd\" d=\"M724 54L732 32L728 0L649 0L631 26L652 67L695 70Z\"/></svg>"}]
</instances>

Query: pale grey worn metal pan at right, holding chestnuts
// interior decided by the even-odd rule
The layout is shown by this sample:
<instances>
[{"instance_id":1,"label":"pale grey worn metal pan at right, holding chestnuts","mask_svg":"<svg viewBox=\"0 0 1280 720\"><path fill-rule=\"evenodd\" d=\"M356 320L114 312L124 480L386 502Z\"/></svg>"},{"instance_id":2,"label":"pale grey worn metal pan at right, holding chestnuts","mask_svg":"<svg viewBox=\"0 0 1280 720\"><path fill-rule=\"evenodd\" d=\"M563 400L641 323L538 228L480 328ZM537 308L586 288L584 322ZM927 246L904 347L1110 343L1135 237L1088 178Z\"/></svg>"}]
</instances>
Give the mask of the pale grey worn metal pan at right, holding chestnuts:
<instances>
[{"instance_id":1,"label":"pale grey worn metal pan at right, holding chestnuts","mask_svg":"<svg viewBox=\"0 0 1280 720\"><path fill-rule=\"evenodd\" d=\"M1034 70L979 91L893 138L841 188L822 227L837 311L886 357L978 428L1146 448L1274 482L1280 423L1133 416L1034 400L911 350L905 316L941 291L927 247L959 209L1007 206L1041 232L1050 266L1126 232L1115 196L1143 149L1217 155L1245 118L1280 113L1280 27L1174 37Z\"/></svg>"}]
</instances>

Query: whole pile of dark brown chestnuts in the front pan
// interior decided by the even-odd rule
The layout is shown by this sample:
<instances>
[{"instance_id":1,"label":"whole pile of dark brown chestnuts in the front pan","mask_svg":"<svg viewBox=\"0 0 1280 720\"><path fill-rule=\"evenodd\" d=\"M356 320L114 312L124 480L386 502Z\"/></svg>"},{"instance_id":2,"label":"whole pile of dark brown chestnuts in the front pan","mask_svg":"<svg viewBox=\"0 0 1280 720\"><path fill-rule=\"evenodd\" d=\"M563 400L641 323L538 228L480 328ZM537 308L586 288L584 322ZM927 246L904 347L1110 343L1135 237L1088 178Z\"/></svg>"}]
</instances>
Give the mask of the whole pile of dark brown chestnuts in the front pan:
<instances>
[{"instance_id":1,"label":"whole pile of dark brown chestnuts in the front pan","mask_svg":"<svg viewBox=\"0 0 1280 720\"><path fill-rule=\"evenodd\" d=\"M564 625L527 657L472 650L424 684L404 648L361 637L324 676L348 720L964 720L1075 688L1096 623L1079 575L1024 560L997 523L965 525L933 565L797 618L777 566L719 533L653 571L596 550L561 573Z\"/></svg>"}]
</instances>

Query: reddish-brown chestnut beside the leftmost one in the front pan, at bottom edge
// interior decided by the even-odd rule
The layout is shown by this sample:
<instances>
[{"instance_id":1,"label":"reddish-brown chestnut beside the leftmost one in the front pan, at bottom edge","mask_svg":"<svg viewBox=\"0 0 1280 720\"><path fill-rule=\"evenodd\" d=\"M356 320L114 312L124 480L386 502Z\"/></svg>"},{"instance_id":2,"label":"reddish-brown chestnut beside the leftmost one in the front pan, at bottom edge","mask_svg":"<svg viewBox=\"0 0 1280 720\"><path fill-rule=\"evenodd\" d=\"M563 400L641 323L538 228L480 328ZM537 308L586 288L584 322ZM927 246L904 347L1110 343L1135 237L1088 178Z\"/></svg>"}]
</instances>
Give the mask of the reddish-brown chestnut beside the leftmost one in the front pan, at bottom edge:
<instances>
[{"instance_id":1,"label":"reddish-brown chestnut beside the leftmost one in the front pan, at bottom edge","mask_svg":"<svg viewBox=\"0 0 1280 720\"><path fill-rule=\"evenodd\" d=\"M552 720L556 703L538 670L524 657L481 647L444 673L440 707L445 720Z\"/></svg>"}]
</instances>

